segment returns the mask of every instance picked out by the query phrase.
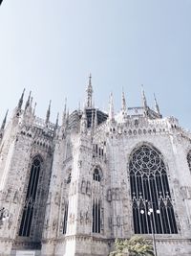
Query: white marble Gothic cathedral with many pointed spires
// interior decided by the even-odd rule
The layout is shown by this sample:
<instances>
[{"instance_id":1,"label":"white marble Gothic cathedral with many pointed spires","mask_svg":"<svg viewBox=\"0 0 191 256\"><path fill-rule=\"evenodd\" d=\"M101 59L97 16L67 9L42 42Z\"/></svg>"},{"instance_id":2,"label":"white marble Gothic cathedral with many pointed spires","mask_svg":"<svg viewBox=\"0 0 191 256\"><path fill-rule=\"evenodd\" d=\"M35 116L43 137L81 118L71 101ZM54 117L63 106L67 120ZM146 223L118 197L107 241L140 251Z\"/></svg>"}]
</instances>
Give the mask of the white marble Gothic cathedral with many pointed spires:
<instances>
[{"instance_id":1,"label":"white marble Gothic cathedral with many pointed spires","mask_svg":"<svg viewBox=\"0 0 191 256\"><path fill-rule=\"evenodd\" d=\"M108 256L140 234L156 256L191 255L191 133L147 104L93 104L62 121L24 92L0 128L0 255Z\"/></svg>"}]
</instances>

